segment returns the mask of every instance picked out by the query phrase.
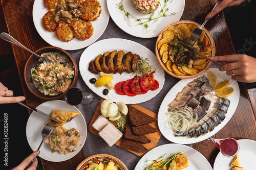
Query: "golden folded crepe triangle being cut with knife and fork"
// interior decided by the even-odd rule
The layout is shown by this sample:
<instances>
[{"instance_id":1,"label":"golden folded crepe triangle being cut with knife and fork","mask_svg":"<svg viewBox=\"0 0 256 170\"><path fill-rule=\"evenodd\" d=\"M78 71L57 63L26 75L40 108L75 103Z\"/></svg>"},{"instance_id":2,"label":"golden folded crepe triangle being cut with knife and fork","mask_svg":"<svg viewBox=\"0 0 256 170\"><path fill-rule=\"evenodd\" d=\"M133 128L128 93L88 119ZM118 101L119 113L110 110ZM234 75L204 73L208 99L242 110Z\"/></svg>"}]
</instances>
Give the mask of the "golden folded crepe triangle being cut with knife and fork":
<instances>
[{"instance_id":1,"label":"golden folded crepe triangle being cut with knife and fork","mask_svg":"<svg viewBox=\"0 0 256 170\"><path fill-rule=\"evenodd\" d=\"M64 110L56 110L53 109L51 116L59 120L60 123L57 123L55 126L61 126L66 122L70 122L74 117L78 116L79 113L71 112L71 111L64 111ZM51 119L47 121L49 123Z\"/></svg>"}]
</instances>

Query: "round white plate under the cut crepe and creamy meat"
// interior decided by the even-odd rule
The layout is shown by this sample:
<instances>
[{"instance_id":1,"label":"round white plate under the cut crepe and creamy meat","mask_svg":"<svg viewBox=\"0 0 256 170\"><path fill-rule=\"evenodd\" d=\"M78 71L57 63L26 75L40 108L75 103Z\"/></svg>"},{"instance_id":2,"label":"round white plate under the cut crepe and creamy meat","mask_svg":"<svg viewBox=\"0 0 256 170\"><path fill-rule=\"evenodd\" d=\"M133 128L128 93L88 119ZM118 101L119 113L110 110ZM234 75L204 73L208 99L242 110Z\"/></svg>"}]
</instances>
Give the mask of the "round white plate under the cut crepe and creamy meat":
<instances>
[{"instance_id":1,"label":"round white plate under the cut crepe and creamy meat","mask_svg":"<svg viewBox=\"0 0 256 170\"><path fill-rule=\"evenodd\" d=\"M84 142L86 142L87 126L86 121L82 116L82 113L75 106L70 106L65 101L48 101L40 104L36 107L36 109L41 110L46 114L50 114L53 109L67 110L80 113L77 117L72 119L71 122L64 124L64 126L67 127L68 130L76 128L81 134L81 138L78 142L77 149L75 152L71 152L68 155L55 152L53 155L51 153L51 148L48 146L46 142L42 143L41 148L39 149L39 157L51 162L65 161L74 157L82 149ZM39 144L42 140L41 132L42 129L45 127L47 120L47 117L42 116L34 111L29 116L26 127L26 135L30 148L33 151L36 151L39 147Z\"/></svg>"}]
</instances>

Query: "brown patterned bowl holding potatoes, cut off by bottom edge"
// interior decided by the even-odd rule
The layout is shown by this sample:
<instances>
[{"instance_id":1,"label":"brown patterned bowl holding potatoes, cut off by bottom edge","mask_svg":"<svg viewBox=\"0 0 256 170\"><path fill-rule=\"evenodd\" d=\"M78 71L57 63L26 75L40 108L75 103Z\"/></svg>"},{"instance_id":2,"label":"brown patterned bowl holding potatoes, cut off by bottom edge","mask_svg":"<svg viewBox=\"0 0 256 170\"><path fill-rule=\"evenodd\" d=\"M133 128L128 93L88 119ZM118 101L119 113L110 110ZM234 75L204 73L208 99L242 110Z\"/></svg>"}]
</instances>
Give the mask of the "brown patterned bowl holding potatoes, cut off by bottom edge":
<instances>
[{"instance_id":1,"label":"brown patterned bowl holding potatoes, cut off by bottom edge","mask_svg":"<svg viewBox=\"0 0 256 170\"><path fill-rule=\"evenodd\" d=\"M117 159L116 157L112 156L112 155L108 155L108 154L97 154L97 155L93 155L90 156L86 159L84 159L77 167L76 170L84 170L87 169L89 167L89 165L91 163L100 163L102 162L104 164L104 162L109 162L112 161L115 163L115 165L118 167L118 169L120 170L128 170L127 167L125 166L125 164L120 161L119 159Z\"/></svg>"}]
</instances>

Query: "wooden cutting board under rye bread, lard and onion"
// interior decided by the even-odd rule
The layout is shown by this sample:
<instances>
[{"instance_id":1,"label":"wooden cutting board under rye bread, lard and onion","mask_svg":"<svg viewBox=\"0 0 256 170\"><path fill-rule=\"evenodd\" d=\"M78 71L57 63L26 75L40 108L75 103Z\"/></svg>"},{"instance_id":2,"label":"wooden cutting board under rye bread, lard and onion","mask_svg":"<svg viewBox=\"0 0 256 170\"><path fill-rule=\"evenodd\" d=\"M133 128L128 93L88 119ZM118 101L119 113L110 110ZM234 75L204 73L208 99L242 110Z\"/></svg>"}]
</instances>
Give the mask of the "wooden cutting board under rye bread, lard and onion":
<instances>
[{"instance_id":1,"label":"wooden cutting board under rye bread, lard and onion","mask_svg":"<svg viewBox=\"0 0 256 170\"><path fill-rule=\"evenodd\" d=\"M100 113L100 104L101 104L102 101L104 101L104 99L101 99L101 101L100 101L100 103L99 103L99 105L98 105L98 107L97 107L97 109L96 109L96 111L95 111L95 113L94 113L94 115L93 115L93 118L92 118L92 120L91 120L91 122L90 122L90 125L89 125L89 131L90 131L91 133L97 135L97 136L99 136L99 131L97 131L96 129L94 129L94 128L92 127L92 124L95 122L95 120L96 120L96 118L98 117L98 115L101 114L101 113ZM145 108L143 108L143 107L141 107L141 106L139 106L139 105L132 105L132 106L135 107L136 109L142 111L143 113L145 113L145 114L147 114L147 115L150 115L150 116L152 116L152 117L157 118L157 114L154 113L154 112L152 112L152 111L150 111L150 110L147 110L147 109L145 109ZM115 123L115 122L112 122L112 121L110 121L110 122L113 123L113 124ZM156 128L156 129L159 129L159 128L158 128L158 125L157 125L157 121L156 121L156 122L152 122L152 123L150 123L149 125L151 125L152 127ZM147 143L147 144L143 144L143 145L144 145L144 147L146 147L146 148L148 149L148 151L150 151L150 150L152 150L153 148L156 147L157 142L158 142L158 140L159 140L160 137L161 137L161 132L158 131L158 132L155 132L155 133L146 134L145 136L146 136L148 139L150 139L151 142L150 142L150 143ZM115 144L122 148L122 138L120 138ZM130 152L132 152L132 153L134 153L134 154L136 154L136 155L139 155L139 156L143 156L143 155L146 153L146 152L141 153L141 152L137 152L137 151L135 151L135 150L129 150L129 149L125 149L125 150L130 151Z\"/></svg>"}]
</instances>

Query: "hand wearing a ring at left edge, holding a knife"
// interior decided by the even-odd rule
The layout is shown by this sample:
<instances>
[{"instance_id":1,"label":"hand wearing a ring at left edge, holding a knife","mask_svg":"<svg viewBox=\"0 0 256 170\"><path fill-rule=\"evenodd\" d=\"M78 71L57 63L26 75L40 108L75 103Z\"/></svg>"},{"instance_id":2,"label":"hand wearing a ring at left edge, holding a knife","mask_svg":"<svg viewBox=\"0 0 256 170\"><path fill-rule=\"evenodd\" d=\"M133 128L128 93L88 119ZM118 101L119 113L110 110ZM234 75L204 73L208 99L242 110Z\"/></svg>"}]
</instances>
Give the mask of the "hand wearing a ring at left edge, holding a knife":
<instances>
[{"instance_id":1,"label":"hand wearing a ring at left edge, holding a knife","mask_svg":"<svg viewBox=\"0 0 256 170\"><path fill-rule=\"evenodd\" d=\"M17 103L17 102L21 102L21 101L24 101L24 100L25 100L24 96L13 97L13 91L8 90L8 88L5 87L0 82L0 104Z\"/></svg>"}]
</instances>

